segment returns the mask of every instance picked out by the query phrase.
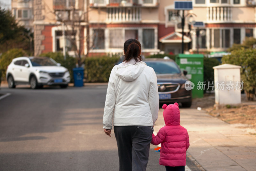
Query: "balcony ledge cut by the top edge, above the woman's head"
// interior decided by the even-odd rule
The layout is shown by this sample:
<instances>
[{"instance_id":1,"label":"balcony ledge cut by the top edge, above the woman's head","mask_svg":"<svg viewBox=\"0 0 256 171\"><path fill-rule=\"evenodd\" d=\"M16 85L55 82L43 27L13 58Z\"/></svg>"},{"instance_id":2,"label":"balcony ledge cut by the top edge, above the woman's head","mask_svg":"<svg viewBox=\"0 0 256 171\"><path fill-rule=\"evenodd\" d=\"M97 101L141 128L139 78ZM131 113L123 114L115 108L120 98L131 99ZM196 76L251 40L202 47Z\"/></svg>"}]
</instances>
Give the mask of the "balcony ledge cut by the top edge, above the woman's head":
<instances>
[{"instance_id":1,"label":"balcony ledge cut by the top edge, above the woman's head","mask_svg":"<svg viewBox=\"0 0 256 171\"><path fill-rule=\"evenodd\" d=\"M158 6L159 0L90 0L91 7Z\"/></svg>"}]
</instances>

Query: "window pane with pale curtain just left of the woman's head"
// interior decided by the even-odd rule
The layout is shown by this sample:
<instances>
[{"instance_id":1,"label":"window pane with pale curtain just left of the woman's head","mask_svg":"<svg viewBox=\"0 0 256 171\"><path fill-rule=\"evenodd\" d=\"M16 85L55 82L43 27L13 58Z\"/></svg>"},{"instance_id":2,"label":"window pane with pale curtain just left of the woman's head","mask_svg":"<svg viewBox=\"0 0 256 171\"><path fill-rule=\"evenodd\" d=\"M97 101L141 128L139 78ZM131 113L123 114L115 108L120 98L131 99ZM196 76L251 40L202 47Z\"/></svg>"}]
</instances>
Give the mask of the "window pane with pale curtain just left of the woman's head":
<instances>
[{"instance_id":1,"label":"window pane with pale curtain just left of the woman's head","mask_svg":"<svg viewBox=\"0 0 256 171\"><path fill-rule=\"evenodd\" d=\"M124 38L122 29L109 30L109 47L110 48L123 48Z\"/></svg>"}]
</instances>

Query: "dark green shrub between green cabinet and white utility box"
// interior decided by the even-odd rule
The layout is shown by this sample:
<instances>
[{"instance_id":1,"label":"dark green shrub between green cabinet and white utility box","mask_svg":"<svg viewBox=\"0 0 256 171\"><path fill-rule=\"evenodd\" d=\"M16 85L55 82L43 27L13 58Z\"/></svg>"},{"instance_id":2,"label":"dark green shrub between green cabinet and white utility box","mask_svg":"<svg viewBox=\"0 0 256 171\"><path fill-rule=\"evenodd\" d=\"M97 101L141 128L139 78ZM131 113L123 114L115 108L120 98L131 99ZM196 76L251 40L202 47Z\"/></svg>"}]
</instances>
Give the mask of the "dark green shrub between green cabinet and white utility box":
<instances>
[{"instance_id":1,"label":"dark green shrub between green cabinet and white utility box","mask_svg":"<svg viewBox=\"0 0 256 171\"><path fill-rule=\"evenodd\" d=\"M204 93L208 88L208 83L211 84L212 82L214 82L214 69L212 67L215 67L217 65L220 65L220 62L217 59L204 57Z\"/></svg>"}]
</instances>

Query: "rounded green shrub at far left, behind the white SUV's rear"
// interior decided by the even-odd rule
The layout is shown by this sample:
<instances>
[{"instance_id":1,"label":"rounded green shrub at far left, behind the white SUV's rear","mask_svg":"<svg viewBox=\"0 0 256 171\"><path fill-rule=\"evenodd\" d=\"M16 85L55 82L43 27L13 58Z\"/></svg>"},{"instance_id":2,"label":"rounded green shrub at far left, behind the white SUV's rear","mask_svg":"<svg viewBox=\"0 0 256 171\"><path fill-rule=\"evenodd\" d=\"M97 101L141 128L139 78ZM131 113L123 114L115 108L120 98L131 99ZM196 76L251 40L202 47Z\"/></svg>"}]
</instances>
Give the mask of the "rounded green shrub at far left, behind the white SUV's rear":
<instances>
[{"instance_id":1,"label":"rounded green shrub at far left, behind the white SUV's rear","mask_svg":"<svg viewBox=\"0 0 256 171\"><path fill-rule=\"evenodd\" d=\"M26 52L22 49L11 49L3 53L0 57L0 70L2 70L2 77L5 78L7 66L12 62L12 59L26 55Z\"/></svg>"}]
</instances>

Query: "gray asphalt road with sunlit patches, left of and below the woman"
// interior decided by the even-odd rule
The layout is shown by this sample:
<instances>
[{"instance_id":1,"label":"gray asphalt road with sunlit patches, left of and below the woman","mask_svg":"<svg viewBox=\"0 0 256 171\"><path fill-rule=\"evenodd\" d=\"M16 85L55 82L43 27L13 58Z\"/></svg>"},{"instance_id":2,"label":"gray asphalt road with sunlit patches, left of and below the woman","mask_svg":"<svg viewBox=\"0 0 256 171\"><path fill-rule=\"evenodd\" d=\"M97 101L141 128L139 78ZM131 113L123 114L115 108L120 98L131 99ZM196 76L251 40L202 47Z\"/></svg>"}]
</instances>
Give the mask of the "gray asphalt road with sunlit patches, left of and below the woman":
<instances>
[{"instance_id":1,"label":"gray asphalt road with sunlit patches, left of and below the woman","mask_svg":"<svg viewBox=\"0 0 256 171\"><path fill-rule=\"evenodd\" d=\"M106 90L2 88L11 95L0 100L0 171L117 171L114 132L110 138L102 129ZM164 171L154 148L147 171Z\"/></svg>"}]
</instances>

